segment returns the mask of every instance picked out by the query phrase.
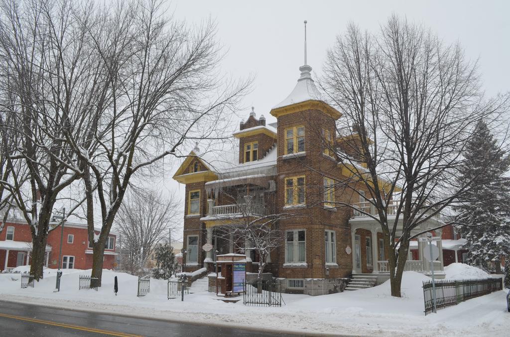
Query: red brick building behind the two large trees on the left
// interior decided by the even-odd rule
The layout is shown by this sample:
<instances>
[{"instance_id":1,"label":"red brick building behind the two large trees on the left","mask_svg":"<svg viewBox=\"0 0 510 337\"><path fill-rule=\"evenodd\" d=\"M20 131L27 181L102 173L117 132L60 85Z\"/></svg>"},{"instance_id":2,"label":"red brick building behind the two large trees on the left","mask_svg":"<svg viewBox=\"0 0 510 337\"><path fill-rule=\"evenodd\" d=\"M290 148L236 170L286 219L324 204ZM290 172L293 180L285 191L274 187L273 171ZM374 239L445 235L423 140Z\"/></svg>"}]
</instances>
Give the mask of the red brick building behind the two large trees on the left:
<instances>
[{"instance_id":1,"label":"red brick building behind the two large trees on the left","mask_svg":"<svg viewBox=\"0 0 510 337\"><path fill-rule=\"evenodd\" d=\"M57 222L50 226L53 228ZM98 234L99 232L97 232ZM59 267L61 229L56 228L48 234L44 265L48 268ZM87 225L66 222L62 243L62 268L91 269L92 248L88 244ZM117 255L115 245L117 234L111 232L105 249L104 268L115 267ZM8 218L5 228L0 233L0 271L11 270L18 266L30 265L30 251L32 250L32 236L27 222L20 217Z\"/></svg>"}]
</instances>

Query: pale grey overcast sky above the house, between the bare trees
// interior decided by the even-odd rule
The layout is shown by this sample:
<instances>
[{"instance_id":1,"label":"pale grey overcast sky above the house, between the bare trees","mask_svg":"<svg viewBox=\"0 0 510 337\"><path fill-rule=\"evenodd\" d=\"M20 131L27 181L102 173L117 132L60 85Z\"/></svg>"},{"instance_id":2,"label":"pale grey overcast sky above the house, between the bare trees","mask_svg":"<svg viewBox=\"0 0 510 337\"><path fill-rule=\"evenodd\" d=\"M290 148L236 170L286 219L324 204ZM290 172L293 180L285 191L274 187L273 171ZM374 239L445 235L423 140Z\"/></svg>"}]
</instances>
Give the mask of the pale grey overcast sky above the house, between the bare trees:
<instances>
[{"instance_id":1,"label":"pale grey overcast sky above the house, between the bare trees","mask_svg":"<svg viewBox=\"0 0 510 337\"><path fill-rule=\"evenodd\" d=\"M271 107L294 88L303 64L303 20L307 20L308 64L314 79L320 76L327 48L353 21L362 30L377 32L394 12L423 23L446 43L460 41L472 60L479 59L487 95L510 90L510 1L210 1L174 0L168 3L179 19L189 24L211 17L217 22L217 38L228 53L223 71L234 76L253 74L253 91L245 100L257 116L269 122ZM165 185L177 189L184 200L184 186L171 179ZM182 236L182 233L179 233Z\"/></svg>"}]
</instances>

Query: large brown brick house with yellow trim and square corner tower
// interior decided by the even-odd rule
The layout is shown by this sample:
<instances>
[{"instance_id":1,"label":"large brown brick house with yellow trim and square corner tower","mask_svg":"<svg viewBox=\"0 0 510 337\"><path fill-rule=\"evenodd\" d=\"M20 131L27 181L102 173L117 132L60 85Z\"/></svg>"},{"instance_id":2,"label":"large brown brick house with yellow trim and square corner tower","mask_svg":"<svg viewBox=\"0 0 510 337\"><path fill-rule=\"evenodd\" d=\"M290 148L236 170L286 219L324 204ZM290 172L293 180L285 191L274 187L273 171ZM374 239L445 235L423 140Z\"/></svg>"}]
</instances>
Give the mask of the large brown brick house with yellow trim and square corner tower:
<instances>
[{"instance_id":1,"label":"large brown brick house with yellow trim and square corner tower","mask_svg":"<svg viewBox=\"0 0 510 337\"><path fill-rule=\"evenodd\" d=\"M336 121L342 114L318 99L312 68L304 65L299 70L294 90L270 111L277 123L266 124L264 116L257 118L252 108L233 134L238 148L213 154L201 151L197 144L173 176L186 186L186 271L214 270L216 251L241 252L247 257L248 270L256 271L257 257L249 249L234 251L232 238L225 240L217 231L225 219L240 213L244 196L250 195L261 214L294 214L278 221L283 244L271 253L265 270L284 279L286 291L317 295L342 291L353 275L370 275L377 282L389 278L379 224L333 204L342 201L376 214L370 203L360 200L357 192L328 188L334 184L331 178L348 179L349 170L324 144L349 153L355 139L337 134ZM362 170L363 162L359 164ZM437 227L438 222L431 219L416 233ZM205 243L214 248L206 253ZM441 249L441 241L438 245ZM429 272L423 248L420 243L416 261L410 258L406 270ZM434 268L441 275L442 255Z\"/></svg>"}]
</instances>

